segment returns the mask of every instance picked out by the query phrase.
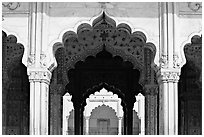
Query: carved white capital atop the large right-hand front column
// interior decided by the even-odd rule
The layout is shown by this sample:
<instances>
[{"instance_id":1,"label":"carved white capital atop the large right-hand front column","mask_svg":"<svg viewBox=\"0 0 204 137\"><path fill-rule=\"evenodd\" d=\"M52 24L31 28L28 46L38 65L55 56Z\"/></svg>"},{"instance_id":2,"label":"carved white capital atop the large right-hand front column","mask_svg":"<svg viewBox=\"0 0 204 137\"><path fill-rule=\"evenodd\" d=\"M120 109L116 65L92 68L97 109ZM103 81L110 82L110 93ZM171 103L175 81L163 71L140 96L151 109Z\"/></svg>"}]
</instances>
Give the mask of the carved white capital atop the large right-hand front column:
<instances>
[{"instance_id":1,"label":"carved white capital atop the large right-hand front column","mask_svg":"<svg viewBox=\"0 0 204 137\"><path fill-rule=\"evenodd\" d=\"M180 69L175 68L167 68L167 69L160 69L157 72L157 80L158 83L165 83L165 82L173 82L177 83L179 81L180 76Z\"/></svg>"}]
</instances>

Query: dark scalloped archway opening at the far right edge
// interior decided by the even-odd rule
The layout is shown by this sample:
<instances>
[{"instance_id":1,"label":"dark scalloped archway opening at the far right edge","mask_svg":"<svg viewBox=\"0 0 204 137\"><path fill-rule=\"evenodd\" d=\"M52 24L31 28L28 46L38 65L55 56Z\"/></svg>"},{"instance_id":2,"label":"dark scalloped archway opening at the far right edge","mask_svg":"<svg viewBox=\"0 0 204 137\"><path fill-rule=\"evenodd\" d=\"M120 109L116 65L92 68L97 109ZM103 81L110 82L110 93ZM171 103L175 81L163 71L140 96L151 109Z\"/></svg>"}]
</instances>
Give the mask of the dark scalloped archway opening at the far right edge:
<instances>
[{"instance_id":1,"label":"dark scalloped archway opening at the far right edge","mask_svg":"<svg viewBox=\"0 0 204 137\"><path fill-rule=\"evenodd\" d=\"M178 126L181 135L202 134L202 37L185 45L186 64L178 83Z\"/></svg>"}]
</instances>

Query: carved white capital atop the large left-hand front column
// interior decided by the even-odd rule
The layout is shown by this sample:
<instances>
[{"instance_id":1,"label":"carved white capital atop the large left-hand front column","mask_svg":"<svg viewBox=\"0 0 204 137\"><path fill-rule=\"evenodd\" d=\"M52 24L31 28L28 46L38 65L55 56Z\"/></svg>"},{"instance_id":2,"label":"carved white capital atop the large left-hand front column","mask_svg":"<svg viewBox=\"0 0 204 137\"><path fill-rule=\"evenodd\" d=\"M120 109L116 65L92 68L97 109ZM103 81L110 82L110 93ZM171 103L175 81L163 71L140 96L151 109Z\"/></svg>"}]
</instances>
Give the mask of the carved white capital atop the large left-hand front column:
<instances>
[{"instance_id":1,"label":"carved white capital atop the large left-hand front column","mask_svg":"<svg viewBox=\"0 0 204 137\"><path fill-rule=\"evenodd\" d=\"M30 82L38 81L38 82L45 82L46 84L49 84L52 73L47 69L42 69L42 68L29 69L28 68L27 75L29 77Z\"/></svg>"}]
</instances>

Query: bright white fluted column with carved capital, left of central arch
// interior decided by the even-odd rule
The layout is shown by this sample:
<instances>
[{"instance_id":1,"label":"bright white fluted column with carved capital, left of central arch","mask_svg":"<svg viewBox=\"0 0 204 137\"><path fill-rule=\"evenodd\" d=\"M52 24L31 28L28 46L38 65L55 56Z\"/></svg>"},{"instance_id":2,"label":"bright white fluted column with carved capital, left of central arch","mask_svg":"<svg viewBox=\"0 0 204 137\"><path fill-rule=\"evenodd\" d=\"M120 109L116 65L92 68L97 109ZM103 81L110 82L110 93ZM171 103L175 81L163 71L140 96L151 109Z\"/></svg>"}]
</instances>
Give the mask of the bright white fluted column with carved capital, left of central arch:
<instances>
[{"instance_id":1,"label":"bright white fluted column with carved capital, left of central arch","mask_svg":"<svg viewBox=\"0 0 204 137\"><path fill-rule=\"evenodd\" d=\"M51 72L46 69L29 70L30 135L48 135L48 95Z\"/></svg>"}]
</instances>

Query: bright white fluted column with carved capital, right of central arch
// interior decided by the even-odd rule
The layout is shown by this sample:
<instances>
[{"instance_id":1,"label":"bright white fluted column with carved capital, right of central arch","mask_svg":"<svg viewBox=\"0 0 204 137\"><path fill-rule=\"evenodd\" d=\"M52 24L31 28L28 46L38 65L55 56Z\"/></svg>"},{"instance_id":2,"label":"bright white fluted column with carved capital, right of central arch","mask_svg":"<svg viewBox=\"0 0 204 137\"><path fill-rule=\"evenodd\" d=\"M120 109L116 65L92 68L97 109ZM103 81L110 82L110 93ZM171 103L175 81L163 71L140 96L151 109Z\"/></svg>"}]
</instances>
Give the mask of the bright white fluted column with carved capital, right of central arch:
<instances>
[{"instance_id":1,"label":"bright white fluted column with carved capital, right of central arch","mask_svg":"<svg viewBox=\"0 0 204 137\"><path fill-rule=\"evenodd\" d=\"M179 69L160 69L159 83L159 134L178 134L178 80Z\"/></svg>"}]
</instances>

